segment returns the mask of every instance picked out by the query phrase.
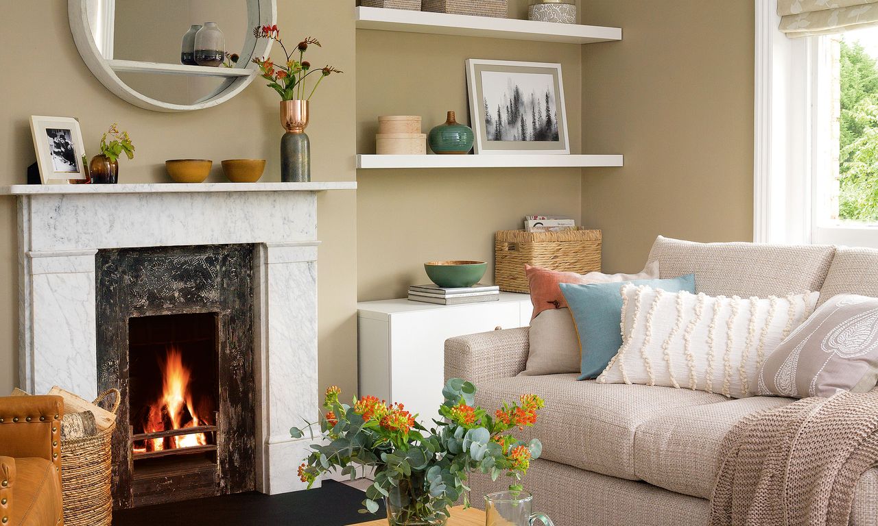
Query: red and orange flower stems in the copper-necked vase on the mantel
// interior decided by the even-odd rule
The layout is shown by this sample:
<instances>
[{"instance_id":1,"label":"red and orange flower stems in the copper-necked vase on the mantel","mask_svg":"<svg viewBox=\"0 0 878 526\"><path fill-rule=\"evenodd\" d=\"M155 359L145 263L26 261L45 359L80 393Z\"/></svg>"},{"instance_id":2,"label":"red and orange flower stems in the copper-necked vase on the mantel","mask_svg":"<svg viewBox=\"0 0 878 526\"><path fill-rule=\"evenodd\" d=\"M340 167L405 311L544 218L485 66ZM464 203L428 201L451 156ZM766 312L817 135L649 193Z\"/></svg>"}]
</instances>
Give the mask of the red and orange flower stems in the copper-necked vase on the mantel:
<instances>
[{"instance_id":1,"label":"red and orange flower stems in the copper-necked vase on the mantel","mask_svg":"<svg viewBox=\"0 0 878 526\"><path fill-rule=\"evenodd\" d=\"M314 91L317 90L317 87L320 86L320 82L322 82L325 77L334 73L342 73L341 70L329 66L328 64L320 69L312 69L311 62L305 60L305 52L307 51L308 46L313 44L314 46L322 47L317 39L308 37L299 42L292 52L289 52L287 51L286 46L284 46L284 41L280 38L280 30L277 29L277 25L262 25L255 27L253 30L253 36L257 39L273 40L284 50L286 58L283 64L275 64L270 58L266 57L253 59L253 62L259 66L259 71L263 79L269 81L267 86L277 91L277 94L280 95L280 98L283 101L302 99L310 101L311 96L314 95ZM299 52L299 60L295 60L294 58L297 51ZM313 89L311 89L311 92L305 97L307 91L305 85L306 79L318 72L320 73L320 78L317 79L317 82L314 82Z\"/></svg>"}]
</instances>

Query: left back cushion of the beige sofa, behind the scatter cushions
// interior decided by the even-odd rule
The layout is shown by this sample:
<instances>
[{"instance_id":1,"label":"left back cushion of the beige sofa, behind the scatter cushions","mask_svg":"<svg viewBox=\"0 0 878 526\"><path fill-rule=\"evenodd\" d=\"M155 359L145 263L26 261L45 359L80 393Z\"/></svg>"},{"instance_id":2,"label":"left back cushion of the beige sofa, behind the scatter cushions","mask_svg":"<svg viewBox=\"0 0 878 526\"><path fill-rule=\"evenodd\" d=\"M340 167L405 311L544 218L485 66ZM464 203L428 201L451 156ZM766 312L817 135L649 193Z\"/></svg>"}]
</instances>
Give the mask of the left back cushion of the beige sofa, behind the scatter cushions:
<instances>
[{"instance_id":1,"label":"left back cushion of the beige sofa, behind the scatter cushions","mask_svg":"<svg viewBox=\"0 0 878 526\"><path fill-rule=\"evenodd\" d=\"M821 290L834 255L831 245L694 243L659 236L649 262L659 261L662 278L695 274L695 292L766 297Z\"/></svg>"}]
</instances>

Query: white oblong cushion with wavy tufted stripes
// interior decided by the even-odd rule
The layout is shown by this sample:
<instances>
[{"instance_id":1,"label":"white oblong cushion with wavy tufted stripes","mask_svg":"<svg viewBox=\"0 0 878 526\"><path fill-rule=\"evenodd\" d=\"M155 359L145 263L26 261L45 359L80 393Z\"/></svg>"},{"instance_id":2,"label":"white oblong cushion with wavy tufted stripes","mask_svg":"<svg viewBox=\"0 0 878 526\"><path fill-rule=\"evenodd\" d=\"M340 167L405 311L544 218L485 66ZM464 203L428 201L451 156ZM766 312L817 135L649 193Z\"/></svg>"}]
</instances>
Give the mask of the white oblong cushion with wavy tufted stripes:
<instances>
[{"instance_id":1,"label":"white oblong cushion with wavy tufted stripes","mask_svg":"<svg viewBox=\"0 0 878 526\"><path fill-rule=\"evenodd\" d=\"M810 316L819 293L759 299L622 288L623 345L600 383L689 387L744 398L759 366Z\"/></svg>"}]
</instances>

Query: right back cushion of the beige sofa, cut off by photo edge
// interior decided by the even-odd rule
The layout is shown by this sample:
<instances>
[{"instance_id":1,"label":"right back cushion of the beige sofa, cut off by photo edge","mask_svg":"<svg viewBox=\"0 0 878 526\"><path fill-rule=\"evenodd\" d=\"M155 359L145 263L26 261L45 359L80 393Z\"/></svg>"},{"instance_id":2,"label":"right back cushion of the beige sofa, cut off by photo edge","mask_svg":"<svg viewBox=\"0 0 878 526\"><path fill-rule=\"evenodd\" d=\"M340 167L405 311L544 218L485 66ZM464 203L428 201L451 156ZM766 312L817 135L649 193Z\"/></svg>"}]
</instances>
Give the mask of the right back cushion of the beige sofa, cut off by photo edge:
<instances>
[{"instance_id":1,"label":"right back cushion of the beige sofa, cut off by photo edge","mask_svg":"<svg viewBox=\"0 0 878 526\"><path fill-rule=\"evenodd\" d=\"M839 246L820 290L820 304L839 294L878 297L878 250Z\"/></svg>"}]
</instances>

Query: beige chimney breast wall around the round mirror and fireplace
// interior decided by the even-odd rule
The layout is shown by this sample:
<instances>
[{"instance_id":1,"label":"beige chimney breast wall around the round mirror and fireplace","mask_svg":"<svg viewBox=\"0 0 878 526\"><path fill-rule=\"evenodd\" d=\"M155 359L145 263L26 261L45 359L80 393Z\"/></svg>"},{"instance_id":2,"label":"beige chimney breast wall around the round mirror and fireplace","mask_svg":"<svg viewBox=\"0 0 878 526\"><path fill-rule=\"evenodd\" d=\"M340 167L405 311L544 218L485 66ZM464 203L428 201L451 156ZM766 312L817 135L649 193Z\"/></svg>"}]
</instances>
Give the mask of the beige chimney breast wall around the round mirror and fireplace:
<instances>
[{"instance_id":1,"label":"beige chimney breast wall around the round mirror and fireplace","mask_svg":"<svg viewBox=\"0 0 878 526\"><path fill-rule=\"evenodd\" d=\"M311 60L349 72L328 79L312 102L313 179L352 181L355 113L354 22L349 4L310 0L278 2L278 21L289 39L319 37ZM40 20L40 32L23 20ZM0 184L25 181L34 160L31 115L79 117L86 148L95 153L112 122L129 131L133 161L120 160L120 181L167 181L163 161L205 157L215 161L212 181L222 181L219 160L264 157L265 181L278 181L282 129L277 95L254 82L240 96L209 110L167 114L141 110L112 95L83 64L70 35L65 0L7 2L0 18L4 53L19 60L0 82ZM181 33L182 36L182 33ZM15 75L11 77L9 75ZM320 385L356 389L356 195L319 198ZM18 264L15 200L0 197L0 395L18 384Z\"/></svg>"}]
</instances>

